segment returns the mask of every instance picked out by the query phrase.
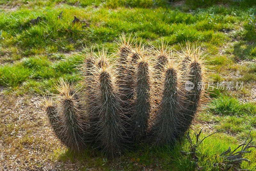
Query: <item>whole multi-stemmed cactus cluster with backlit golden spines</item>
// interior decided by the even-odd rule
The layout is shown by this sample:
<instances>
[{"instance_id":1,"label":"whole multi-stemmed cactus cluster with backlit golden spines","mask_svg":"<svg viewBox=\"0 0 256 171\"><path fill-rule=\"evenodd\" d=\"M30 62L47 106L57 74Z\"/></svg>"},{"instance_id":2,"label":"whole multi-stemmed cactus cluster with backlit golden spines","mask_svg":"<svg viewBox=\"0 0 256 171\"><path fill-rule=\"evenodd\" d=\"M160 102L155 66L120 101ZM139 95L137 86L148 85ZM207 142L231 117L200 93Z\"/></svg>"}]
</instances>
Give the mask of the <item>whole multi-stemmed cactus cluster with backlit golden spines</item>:
<instances>
[{"instance_id":1,"label":"whole multi-stemmed cactus cluster with backlit golden spines","mask_svg":"<svg viewBox=\"0 0 256 171\"><path fill-rule=\"evenodd\" d=\"M121 39L111 57L104 49L86 52L82 86L62 80L54 100L44 98L52 129L73 150L93 147L114 157L140 143L173 145L198 110L205 79L198 49L174 53L164 43L148 49Z\"/></svg>"}]
</instances>

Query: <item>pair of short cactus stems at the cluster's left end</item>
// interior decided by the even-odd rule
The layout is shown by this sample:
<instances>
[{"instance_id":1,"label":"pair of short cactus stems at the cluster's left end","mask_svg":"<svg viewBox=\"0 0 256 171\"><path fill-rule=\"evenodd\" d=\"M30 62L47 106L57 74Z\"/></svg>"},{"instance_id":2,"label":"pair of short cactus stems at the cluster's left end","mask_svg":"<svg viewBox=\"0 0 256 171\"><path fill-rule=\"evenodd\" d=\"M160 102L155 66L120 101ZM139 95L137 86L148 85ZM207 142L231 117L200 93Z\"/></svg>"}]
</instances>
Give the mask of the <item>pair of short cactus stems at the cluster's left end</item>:
<instances>
[{"instance_id":1,"label":"pair of short cactus stems at the cluster's left end","mask_svg":"<svg viewBox=\"0 0 256 171\"><path fill-rule=\"evenodd\" d=\"M63 80L57 87L60 95L56 104L49 97L44 97L43 107L49 117L53 131L67 147L81 151L85 149L86 124L81 121L83 107L80 104L79 93Z\"/></svg>"}]
</instances>

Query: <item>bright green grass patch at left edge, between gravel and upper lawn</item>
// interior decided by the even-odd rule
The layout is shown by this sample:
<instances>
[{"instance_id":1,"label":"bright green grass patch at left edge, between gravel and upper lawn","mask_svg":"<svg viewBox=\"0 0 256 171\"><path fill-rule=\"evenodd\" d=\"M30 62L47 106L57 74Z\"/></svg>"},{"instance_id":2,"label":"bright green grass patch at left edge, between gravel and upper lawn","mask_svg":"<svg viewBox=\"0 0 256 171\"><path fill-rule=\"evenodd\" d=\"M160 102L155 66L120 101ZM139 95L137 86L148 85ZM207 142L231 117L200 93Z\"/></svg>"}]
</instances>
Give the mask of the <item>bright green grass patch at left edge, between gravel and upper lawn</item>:
<instances>
[{"instance_id":1,"label":"bright green grass patch at left edge, between gravel and upper lawn","mask_svg":"<svg viewBox=\"0 0 256 171\"><path fill-rule=\"evenodd\" d=\"M61 56L60 56L61 57ZM0 85L15 88L23 84L21 92L53 92L56 81L61 77L77 81L76 67L81 56L50 62L45 56L23 58L14 66L0 68ZM52 87L52 88L51 88Z\"/></svg>"}]
</instances>

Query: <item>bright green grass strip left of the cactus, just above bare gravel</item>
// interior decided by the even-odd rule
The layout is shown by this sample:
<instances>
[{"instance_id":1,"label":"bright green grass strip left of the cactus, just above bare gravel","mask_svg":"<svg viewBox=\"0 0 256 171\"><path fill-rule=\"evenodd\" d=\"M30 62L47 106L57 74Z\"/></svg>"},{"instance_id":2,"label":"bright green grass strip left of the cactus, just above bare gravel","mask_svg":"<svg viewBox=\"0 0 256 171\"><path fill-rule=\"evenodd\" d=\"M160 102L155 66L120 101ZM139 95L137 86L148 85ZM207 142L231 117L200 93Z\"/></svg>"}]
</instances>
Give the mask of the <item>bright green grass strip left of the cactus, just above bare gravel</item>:
<instances>
[{"instance_id":1,"label":"bright green grass strip left of the cactus, just above bare gravel","mask_svg":"<svg viewBox=\"0 0 256 171\"><path fill-rule=\"evenodd\" d=\"M23 58L20 63L14 66L8 65L0 68L0 84L16 87L28 79L32 79L36 83L36 80L42 82L42 80L52 78L58 79L60 76L75 76L74 73L76 72L76 66L79 64L78 61L81 61L81 56L73 56L64 61L56 61L54 63L51 63L45 57ZM34 87L32 86L31 88Z\"/></svg>"}]
</instances>

